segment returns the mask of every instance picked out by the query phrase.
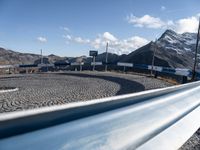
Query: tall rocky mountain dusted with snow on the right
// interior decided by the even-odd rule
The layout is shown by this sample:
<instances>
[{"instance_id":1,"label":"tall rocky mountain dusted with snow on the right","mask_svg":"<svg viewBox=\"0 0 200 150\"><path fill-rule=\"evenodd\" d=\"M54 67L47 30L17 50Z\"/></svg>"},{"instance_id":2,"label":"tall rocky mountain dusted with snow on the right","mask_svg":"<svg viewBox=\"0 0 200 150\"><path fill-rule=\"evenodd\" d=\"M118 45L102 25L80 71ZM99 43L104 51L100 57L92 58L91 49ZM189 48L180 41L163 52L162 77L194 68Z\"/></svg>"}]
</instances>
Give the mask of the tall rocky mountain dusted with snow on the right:
<instances>
[{"instance_id":1,"label":"tall rocky mountain dusted with snow on the right","mask_svg":"<svg viewBox=\"0 0 200 150\"><path fill-rule=\"evenodd\" d=\"M155 49L155 65L192 69L196 38L195 33L178 34L172 30L166 30L156 42L150 42L133 51L121 61L151 65Z\"/></svg>"}]
</instances>

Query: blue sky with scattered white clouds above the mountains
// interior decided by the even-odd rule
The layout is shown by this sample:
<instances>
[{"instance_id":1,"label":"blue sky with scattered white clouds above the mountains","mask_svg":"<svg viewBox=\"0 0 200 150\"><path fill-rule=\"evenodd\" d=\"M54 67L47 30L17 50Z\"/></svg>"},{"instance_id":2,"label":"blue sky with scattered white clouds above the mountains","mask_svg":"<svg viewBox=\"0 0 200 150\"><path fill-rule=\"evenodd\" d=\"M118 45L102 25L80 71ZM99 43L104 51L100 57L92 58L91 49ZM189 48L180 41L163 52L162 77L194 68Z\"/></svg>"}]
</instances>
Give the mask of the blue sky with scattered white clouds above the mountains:
<instances>
[{"instance_id":1,"label":"blue sky with scattered white clouds above the mountains","mask_svg":"<svg viewBox=\"0 0 200 150\"><path fill-rule=\"evenodd\" d=\"M167 28L196 32L198 0L0 0L0 47L59 56L122 54Z\"/></svg>"}]
</instances>

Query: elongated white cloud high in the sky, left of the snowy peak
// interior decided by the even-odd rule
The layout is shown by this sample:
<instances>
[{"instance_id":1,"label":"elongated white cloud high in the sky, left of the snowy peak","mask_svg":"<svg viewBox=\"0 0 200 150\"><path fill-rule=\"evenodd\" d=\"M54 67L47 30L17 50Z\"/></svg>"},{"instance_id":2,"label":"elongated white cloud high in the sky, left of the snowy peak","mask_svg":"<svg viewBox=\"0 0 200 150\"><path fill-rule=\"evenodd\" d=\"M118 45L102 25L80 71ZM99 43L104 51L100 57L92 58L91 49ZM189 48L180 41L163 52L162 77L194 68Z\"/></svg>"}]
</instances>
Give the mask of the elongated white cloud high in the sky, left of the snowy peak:
<instances>
[{"instance_id":1,"label":"elongated white cloud high in the sky, left of the snowy peak","mask_svg":"<svg viewBox=\"0 0 200 150\"><path fill-rule=\"evenodd\" d=\"M135 27L146 27L146 28L163 28L166 23L160 18L152 17L150 15L144 15L142 17L136 17L133 14L127 17L127 20L130 24L133 24Z\"/></svg>"}]
</instances>

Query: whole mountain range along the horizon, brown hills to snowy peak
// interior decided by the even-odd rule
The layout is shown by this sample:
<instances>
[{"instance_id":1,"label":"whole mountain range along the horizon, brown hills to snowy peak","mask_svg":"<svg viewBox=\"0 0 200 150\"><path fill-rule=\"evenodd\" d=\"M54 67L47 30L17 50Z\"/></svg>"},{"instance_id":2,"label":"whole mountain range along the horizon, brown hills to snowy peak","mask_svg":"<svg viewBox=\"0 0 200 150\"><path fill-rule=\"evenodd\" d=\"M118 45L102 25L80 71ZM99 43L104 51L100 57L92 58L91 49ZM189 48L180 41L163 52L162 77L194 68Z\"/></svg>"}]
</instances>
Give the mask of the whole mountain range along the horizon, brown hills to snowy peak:
<instances>
[{"instance_id":1,"label":"whole mountain range along the horizon, brown hills to snowy peak","mask_svg":"<svg viewBox=\"0 0 200 150\"><path fill-rule=\"evenodd\" d=\"M155 65L171 68L192 69L194 63L194 51L196 44L195 33L178 34L173 30L166 30L156 42L150 42L143 47L129 53L128 55L117 55L108 53L108 62L129 62L136 64L151 65L153 51L155 52ZM40 55L19 53L12 50L0 48L1 64L38 64ZM106 53L99 54L96 61L105 61ZM90 63L91 57L60 57L54 54L44 57L44 63L55 62L85 62ZM200 62L200 59L198 59Z\"/></svg>"}]
</instances>

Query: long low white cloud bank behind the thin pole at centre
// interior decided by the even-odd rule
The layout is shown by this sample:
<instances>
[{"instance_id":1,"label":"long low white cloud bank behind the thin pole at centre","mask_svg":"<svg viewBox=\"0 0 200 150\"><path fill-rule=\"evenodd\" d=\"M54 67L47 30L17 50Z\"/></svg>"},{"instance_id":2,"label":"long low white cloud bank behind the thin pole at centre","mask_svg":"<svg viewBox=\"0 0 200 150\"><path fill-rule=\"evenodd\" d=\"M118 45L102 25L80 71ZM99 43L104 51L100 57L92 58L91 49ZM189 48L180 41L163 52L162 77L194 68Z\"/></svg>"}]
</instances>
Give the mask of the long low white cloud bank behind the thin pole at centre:
<instances>
[{"instance_id":1,"label":"long low white cloud bank behind the thin pole at centre","mask_svg":"<svg viewBox=\"0 0 200 150\"><path fill-rule=\"evenodd\" d=\"M106 43L108 42L109 52L113 52L116 54L128 54L149 42L148 40L139 36L133 36L127 39L118 39L116 36L109 32L99 34L93 40L81 37L72 37L70 35L66 35L63 37L67 40L67 43L75 42L79 44L87 44L99 50L104 50Z\"/></svg>"}]
</instances>

